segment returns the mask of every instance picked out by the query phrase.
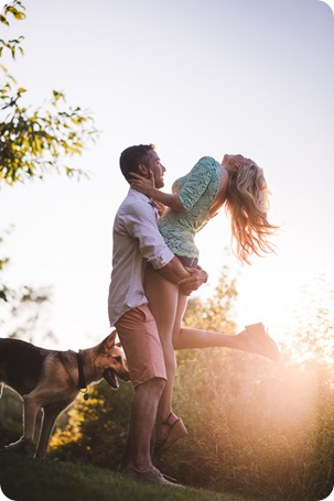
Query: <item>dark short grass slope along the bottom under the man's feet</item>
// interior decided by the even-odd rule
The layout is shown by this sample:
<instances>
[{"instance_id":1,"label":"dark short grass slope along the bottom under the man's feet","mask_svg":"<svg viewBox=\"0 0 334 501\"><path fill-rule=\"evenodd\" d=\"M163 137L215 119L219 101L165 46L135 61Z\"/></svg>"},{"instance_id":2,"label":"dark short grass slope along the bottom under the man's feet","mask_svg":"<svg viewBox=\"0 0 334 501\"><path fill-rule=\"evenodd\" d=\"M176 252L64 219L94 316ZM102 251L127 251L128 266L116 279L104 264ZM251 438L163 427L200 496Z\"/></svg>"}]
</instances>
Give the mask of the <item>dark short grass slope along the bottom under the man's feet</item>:
<instances>
[{"instance_id":1,"label":"dark short grass slope along the bottom under the man's feet","mask_svg":"<svg viewBox=\"0 0 334 501\"><path fill-rule=\"evenodd\" d=\"M228 492L146 484L108 469L3 453L0 484L15 501L258 501Z\"/></svg>"}]
</instances>

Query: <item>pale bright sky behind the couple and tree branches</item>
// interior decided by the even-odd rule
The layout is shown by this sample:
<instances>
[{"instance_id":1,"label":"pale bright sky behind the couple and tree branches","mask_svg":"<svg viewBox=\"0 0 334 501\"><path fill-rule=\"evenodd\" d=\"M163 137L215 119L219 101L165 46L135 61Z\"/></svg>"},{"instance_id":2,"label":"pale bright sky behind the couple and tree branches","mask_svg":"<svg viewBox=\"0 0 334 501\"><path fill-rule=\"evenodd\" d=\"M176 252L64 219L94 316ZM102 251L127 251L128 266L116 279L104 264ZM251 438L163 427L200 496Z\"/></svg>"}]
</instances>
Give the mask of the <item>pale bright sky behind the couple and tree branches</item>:
<instances>
[{"instance_id":1,"label":"pale bright sky behind the couple and tree branches","mask_svg":"<svg viewBox=\"0 0 334 501\"><path fill-rule=\"evenodd\" d=\"M112 221L127 193L119 155L154 143L165 189L203 155L241 153L263 166L277 252L240 266L223 211L197 236L208 297L223 265L237 276L236 322L262 320L284 342L300 290L334 287L334 15L319 0L26 0L24 56L6 62L33 107L62 90L100 131L71 163L79 183L50 175L0 189L6 283L51 286L47 328L60 349L109 334ZM1 336L1 333L0 333ZM50 341L51 344L51 341ZM50 346L49 344L49 346Z\"/></svg>"}]
</instances>

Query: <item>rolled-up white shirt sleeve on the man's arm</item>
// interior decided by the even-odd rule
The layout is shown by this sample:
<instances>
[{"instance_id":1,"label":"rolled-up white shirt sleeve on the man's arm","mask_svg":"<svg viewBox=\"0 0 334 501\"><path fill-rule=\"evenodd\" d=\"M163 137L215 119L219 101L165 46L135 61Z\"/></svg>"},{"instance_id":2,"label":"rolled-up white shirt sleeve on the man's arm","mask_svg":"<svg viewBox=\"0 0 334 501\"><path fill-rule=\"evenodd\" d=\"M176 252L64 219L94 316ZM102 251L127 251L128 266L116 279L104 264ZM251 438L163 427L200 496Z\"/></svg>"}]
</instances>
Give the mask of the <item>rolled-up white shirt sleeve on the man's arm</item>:
<instances>
[{"instance_id":1,"label":"rolled-up white shirt sleeve on the man's arm","mask_svg":"<svg viewBox=\"0 0 334 501\"><path fill-rule=\"evenodd\" d=\"M138 240L141 255L155 270L165 266L174 258L158 229L155 211L149 203L131 205L127 214L127 228Z\"/></svg>"}]
</instances>

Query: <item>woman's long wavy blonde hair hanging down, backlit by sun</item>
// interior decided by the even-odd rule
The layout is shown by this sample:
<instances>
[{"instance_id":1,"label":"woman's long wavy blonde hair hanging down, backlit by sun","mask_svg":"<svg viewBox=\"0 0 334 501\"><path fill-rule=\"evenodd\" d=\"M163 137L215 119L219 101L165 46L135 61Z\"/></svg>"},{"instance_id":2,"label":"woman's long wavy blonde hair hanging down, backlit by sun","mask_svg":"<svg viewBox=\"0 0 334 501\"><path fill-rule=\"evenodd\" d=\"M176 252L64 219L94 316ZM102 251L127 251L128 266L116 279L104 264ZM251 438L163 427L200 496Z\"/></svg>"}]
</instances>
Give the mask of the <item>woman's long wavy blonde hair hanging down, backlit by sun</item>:
<instances>
[{"instance_id":1,"label":"woman's long wavy blonde hair hanging down, backlit by sun","mask_svg":"<svg viewBox=\"0 0 334 501\"><path fill-rule=\"evenodd\" d=\"M269 195L263 170L255 162L245 159L237 172L229 173L225 206L230 216L235 252L241 263L249 264L252 254L274 250L270 237L278 226L267 219Z\"/></svg>"}]
</instances>

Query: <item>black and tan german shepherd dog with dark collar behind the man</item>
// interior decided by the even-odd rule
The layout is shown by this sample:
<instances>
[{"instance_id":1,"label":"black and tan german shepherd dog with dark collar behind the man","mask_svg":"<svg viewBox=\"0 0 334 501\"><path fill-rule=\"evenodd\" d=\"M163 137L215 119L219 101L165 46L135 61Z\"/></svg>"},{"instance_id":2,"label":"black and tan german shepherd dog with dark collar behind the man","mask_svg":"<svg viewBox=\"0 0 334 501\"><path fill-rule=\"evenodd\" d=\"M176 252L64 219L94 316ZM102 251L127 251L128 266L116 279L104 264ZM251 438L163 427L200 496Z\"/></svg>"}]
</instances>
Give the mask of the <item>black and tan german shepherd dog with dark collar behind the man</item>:
<instances>
[{"instance_id":1,"label":"black and tan german shepherd dog with dark collar behind the man","mask_svg":"<svg viewBox=\"0 0 334 501\"><path fill-rule=\"evenodd\" d=\"M80 390L101 379L115 389L119 386L117 377L129 381L123 350L115 344L116 334L114 330L99 345L78 352L47 350L19 339L0 338L0 397L6 384L23 399L23 436L6 446L4 451L26 451L34 438L37 411L42 409L35 457L45 457L56 418Z\"/></svg>"}]
</instances>

